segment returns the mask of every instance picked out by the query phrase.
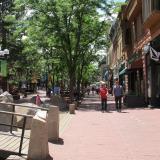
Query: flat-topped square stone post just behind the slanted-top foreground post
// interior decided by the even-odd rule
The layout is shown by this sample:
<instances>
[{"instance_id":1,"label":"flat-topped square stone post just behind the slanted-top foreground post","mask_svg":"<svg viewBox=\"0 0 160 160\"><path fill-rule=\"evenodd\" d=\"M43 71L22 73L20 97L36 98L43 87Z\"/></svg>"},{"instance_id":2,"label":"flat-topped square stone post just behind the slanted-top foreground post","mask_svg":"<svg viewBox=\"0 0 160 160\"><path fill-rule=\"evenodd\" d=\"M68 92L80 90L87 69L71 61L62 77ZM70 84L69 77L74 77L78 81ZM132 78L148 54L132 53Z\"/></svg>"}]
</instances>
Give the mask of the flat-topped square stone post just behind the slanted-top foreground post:
<instances>
[{"instance_id":1,"label":"flat-topped square stone post just behind the slanted-top foreground post","mask_svg":"<svg viewBox=\"0 0 160 160\"><path fill-rule=\"evenodd\" d=\"M48 112L48 140L54 141L59 138L59 107L49 106Z\"/></svg>"}]
</instances>

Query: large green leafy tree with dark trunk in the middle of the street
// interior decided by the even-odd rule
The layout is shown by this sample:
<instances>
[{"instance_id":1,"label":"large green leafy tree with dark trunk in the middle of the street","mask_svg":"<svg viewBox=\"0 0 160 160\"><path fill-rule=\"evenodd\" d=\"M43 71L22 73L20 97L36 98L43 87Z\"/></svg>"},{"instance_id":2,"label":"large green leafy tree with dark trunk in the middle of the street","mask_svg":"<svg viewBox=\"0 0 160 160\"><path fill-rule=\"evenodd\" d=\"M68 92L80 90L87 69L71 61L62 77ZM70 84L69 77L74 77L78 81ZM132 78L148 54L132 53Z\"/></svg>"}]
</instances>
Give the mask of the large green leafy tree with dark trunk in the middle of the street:
<instances>
[{"instance_id":1,"label":"large green leafy tree with dark trunk in the middle of the street","mask_svg":"<svg viewBox=\"0 0 160 160\"><path fill-rule=\"evenodd\" d=\"M86 58L83 54L90 53L107 30L108 25L105 21L100 21L97 11L98 8L107 10L106 1L26 0L22 2L30 11L29 21L35 33L43 35L48 47L56 48L58 56L63 59L70 79L72 98L79 62L84 60L81 59L82 57ZM43 44L41 47L43 48Z\"/></svg>"}]
</instances>

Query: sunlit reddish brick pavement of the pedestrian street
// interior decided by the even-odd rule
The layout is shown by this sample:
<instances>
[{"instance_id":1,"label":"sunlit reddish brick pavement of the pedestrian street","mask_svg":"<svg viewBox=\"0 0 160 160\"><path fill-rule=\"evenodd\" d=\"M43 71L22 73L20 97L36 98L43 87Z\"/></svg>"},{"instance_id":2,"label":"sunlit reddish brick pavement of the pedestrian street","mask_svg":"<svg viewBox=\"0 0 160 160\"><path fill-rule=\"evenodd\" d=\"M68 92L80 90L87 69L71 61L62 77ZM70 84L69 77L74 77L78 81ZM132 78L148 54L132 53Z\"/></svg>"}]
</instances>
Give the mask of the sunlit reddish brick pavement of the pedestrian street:
<instances>
[{"instance_id":1,"label":"sunlit reddish brick pavement of the pedestrian street","mask_svg":"<svg viewBox=\"0 0 160 160\"><path fill-rule=\"evenodd\" d=\"M112 99L113 100L113 99ZM98 96L89 96L70 116L59 144L49 144L54 160L160 160L159 109L101 112ZM112 106L112 107L111 107Z\"/></svg>"}]
</instances>

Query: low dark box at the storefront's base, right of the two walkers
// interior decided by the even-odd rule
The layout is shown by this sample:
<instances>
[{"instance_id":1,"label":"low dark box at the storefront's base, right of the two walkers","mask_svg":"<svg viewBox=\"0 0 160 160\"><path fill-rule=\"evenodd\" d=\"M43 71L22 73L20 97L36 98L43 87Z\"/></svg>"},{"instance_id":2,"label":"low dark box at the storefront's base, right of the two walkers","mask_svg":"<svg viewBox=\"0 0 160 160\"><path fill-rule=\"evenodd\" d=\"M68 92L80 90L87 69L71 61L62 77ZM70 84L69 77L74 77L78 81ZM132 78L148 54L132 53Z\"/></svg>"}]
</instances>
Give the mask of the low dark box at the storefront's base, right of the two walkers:
<instances>
[{"instance_id":1,"label":"low dark box at the storefront's base, right of the two walkers","mask_svg":"<svg viewBox=\"0 0 160 160\"><path fill-rule=\"evenodd\" d=\"M145 98L144 96L126 95L124 98L124 105L127 107L145 107Z\"/></svg>"}]
</instances>

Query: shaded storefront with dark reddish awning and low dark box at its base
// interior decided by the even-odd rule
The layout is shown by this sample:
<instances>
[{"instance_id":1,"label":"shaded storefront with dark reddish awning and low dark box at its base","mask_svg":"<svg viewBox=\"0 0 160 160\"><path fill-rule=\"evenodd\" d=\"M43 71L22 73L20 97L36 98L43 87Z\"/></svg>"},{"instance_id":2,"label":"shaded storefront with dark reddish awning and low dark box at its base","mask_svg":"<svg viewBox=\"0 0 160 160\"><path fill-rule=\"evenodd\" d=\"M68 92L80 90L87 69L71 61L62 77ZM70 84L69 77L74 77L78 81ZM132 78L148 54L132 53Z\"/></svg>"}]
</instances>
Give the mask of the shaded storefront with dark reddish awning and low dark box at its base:
<instances>
[{"instance_id":1,"label":"shaded storefront with dark reddish awning and low dark box at its base","mask_svg":"<svg viewBox=\"0 0 160 160\"><path fill-rule=\"evenodd\" d=\"M137 52L128 58L127 70L125 71L126 95L124 103L129 107L144 107L144 78L142 53Z\"/></svg>"}]
</instances>

